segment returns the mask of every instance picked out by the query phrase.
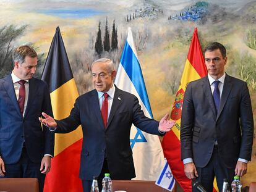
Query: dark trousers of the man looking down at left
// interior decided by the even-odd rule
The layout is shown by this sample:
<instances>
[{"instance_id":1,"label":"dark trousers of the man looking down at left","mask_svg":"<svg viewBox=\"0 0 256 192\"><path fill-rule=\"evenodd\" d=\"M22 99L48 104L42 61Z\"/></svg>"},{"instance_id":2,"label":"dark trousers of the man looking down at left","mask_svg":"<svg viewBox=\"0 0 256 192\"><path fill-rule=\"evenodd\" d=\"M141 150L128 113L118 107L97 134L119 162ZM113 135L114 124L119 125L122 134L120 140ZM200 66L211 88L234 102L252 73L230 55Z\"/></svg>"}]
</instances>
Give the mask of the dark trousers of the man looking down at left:
<instances>
[{"instance_id":1,"label":"dark trousers of the man looking down at left","mask_svg":"<svg viewBox=\"0 0 256 192\"><path fill-rule=\"evenodd\" d=\"M15 164L5 164L4 178L38 178L39 190L43 192L45 174L40 172L41 163L34 163L28 158L25 146L22 149L20 160Z\"/></svg>"}]
</instances>

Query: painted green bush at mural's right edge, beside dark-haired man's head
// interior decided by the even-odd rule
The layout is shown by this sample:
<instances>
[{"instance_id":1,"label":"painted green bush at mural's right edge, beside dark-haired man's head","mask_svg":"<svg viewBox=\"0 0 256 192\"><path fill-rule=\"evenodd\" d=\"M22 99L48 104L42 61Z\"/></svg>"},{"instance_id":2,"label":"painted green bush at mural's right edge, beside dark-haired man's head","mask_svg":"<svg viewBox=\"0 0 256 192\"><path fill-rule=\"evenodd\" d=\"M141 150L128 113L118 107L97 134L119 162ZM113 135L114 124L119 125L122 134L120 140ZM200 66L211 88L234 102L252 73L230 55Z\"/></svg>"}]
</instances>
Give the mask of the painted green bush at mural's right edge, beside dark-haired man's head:
<instances>
[{"instance_id":1,"label":"painted green bush at mural's right edge, beside dark-haired man's head","mask_svg":"<svg viewBox=\"0 0 256 192\"><path fill-rule=\"evenodd\" d=\"M237 73L239 77L247 82L250 90L256 90L256 59L249 53L242 54L236 58Z\"/></svg>"}]
</instances>

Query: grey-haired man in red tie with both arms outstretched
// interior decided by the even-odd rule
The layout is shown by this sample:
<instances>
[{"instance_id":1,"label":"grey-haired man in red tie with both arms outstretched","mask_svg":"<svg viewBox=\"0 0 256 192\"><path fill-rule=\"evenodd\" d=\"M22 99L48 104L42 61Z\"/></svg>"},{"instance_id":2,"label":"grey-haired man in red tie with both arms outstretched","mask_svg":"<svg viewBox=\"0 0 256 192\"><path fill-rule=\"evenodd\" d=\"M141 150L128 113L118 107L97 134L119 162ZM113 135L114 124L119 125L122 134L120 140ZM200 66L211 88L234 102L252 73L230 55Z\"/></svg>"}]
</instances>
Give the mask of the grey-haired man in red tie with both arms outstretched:
<instances>
[{"instance_id":1,"label":"grey-haired man in red tie with both arms outstretched","mask_svg":"<svg viewBox=\"0 0 256 192\"><path fill-rule=\"evenodd\" d=\"M46 126L56 127L56 133L69 133L82 125L80 178L83 191L90 191L93 176L98 177L101 189L104 173L110 173L114 180L135 177L130 148L132 123L155 135L163 135L174 125L174 122L167 120L168 114L160 122L145 117L138 99L114 85L115 77L116 70L110 59L93 62L92 81L95 90L79 96L66 119L54 120L46 114L43 114L45 119L40 118Z\"/></svg>"}]
</instances>

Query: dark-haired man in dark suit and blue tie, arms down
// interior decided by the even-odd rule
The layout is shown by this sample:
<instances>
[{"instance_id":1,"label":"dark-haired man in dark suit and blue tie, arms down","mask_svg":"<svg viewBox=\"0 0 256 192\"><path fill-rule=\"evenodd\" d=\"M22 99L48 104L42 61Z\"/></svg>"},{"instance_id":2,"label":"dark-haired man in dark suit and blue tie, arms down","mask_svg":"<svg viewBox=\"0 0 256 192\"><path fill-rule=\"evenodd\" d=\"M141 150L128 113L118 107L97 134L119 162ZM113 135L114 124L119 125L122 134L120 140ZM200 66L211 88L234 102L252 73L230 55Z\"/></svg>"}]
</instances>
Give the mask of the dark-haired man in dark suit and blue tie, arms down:
<instances>
[{"instance_id":1,"label":"dark-haired man in dark suit and blue tie, arms down","mask_svg":"<svg viewBox=\"0 0 256 192\"><path fill-rule=\"evenodd\" d=\"M223 179L247 171L251 159L254 120L247 84L224 72L226 49L220 43L205 48L208 75L187 85L181 118L181 159L188 178L197 177L213 191ZM194 190L194 189L193 189ZM196 191L196 190L195 190Z\"/></svg>"}]
</instances>

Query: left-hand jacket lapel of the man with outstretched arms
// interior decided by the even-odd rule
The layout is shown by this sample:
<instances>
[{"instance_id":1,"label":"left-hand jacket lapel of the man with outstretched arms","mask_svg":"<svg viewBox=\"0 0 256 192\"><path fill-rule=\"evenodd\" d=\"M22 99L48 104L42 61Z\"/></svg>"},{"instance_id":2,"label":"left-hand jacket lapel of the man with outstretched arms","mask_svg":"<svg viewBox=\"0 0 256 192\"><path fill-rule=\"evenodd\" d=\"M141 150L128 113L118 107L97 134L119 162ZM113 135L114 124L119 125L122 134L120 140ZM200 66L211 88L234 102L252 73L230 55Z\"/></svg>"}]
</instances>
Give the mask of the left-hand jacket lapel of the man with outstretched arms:
<instances>
[{"instance_id":1,"label":"left-hand jacket lapel of the man with outstretched arms","mask_svg":"<svg viewBox=\"0 0 256 192\"><path fill-rule=\"evenodd\" d=\"M100 104L98 99L98 93L96 90L92 91L90 99L90 107L89 109L93 109L93 114L95 114L98 122L100 122L101 127L105 130L103 119L101 117Z\"/></svg>"}]
</instances>

